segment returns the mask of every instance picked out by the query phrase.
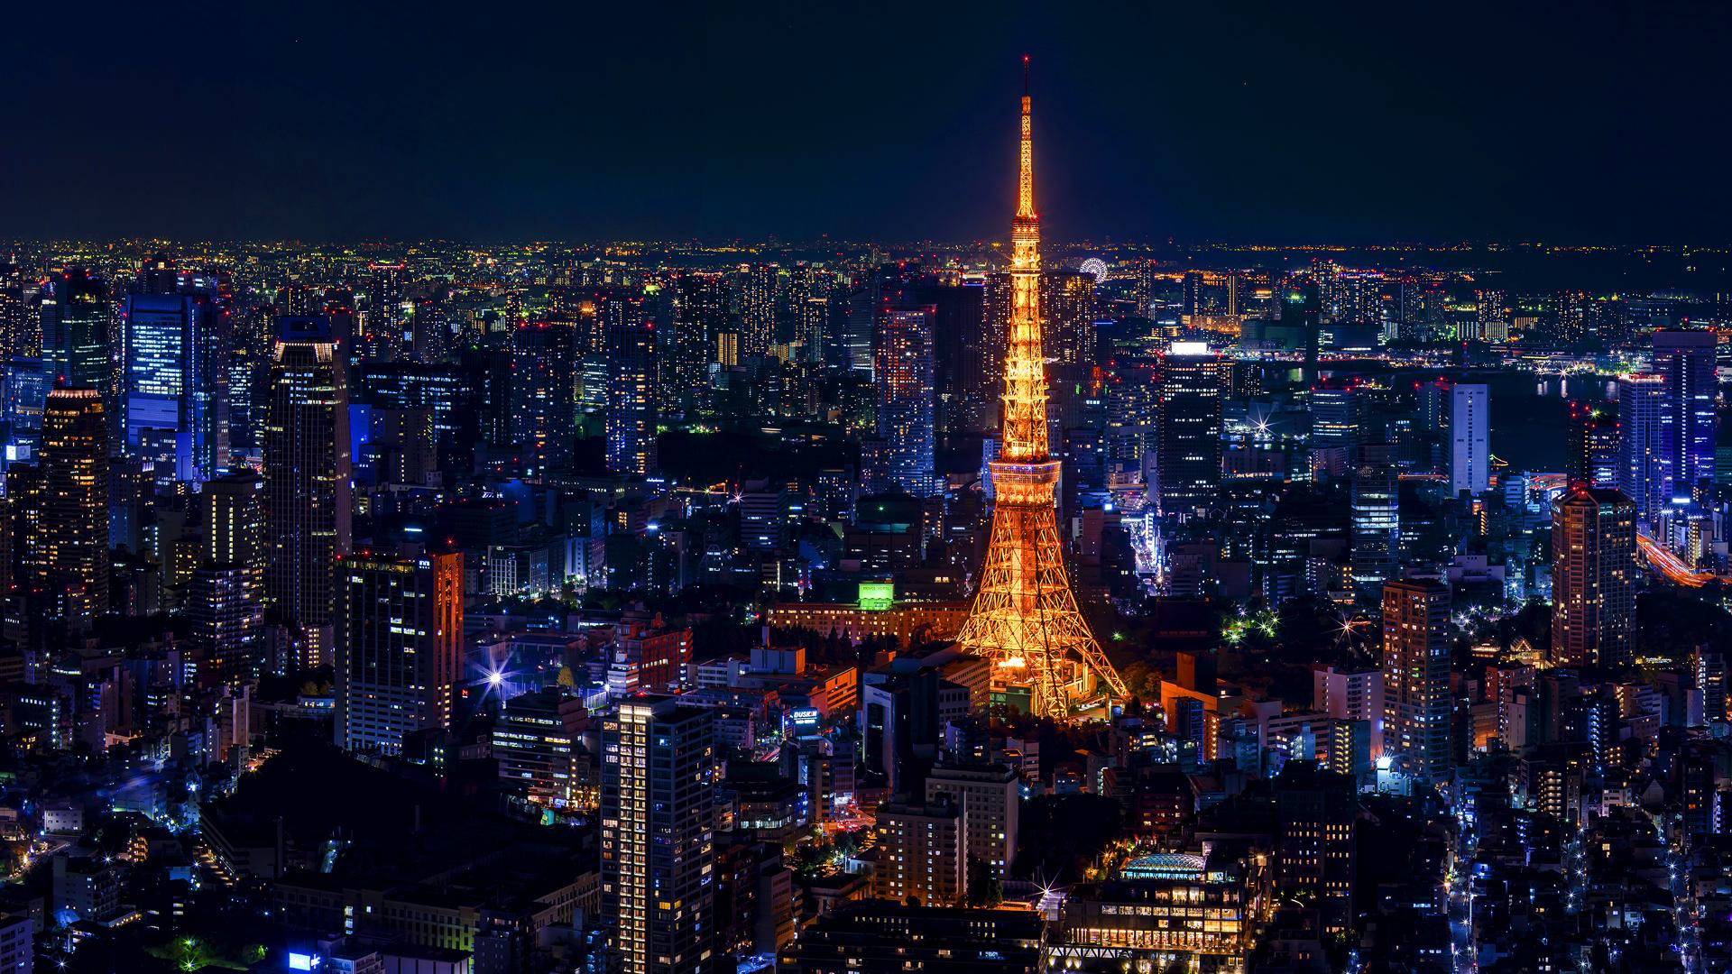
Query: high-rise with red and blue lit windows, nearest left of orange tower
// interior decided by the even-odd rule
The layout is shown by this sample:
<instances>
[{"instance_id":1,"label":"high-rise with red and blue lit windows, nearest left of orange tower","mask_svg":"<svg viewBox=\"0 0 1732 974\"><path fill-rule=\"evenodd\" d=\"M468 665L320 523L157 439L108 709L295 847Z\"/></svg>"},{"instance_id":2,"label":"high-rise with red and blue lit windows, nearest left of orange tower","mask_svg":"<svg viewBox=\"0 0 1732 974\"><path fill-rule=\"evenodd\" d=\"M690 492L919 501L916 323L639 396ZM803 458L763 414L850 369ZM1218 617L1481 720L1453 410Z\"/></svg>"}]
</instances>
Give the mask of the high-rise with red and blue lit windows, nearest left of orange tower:
<instances>
[{"instance_id":1,"label":"high-rise with red and blue lit windows, nearest left of orange tower","mask_svg":"<svg viewBox=\"0 0 1732 974\"><path fill-rule=\"evenodd\" d=\"M934 477L935 388L934 308L883 308L873 333L873 385L878 388L882 468L868 471L871 490L899 487L914 497L937 494Z\"/></svg>"}]
</instances>

